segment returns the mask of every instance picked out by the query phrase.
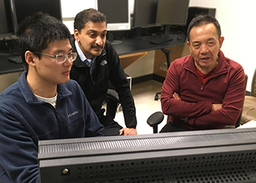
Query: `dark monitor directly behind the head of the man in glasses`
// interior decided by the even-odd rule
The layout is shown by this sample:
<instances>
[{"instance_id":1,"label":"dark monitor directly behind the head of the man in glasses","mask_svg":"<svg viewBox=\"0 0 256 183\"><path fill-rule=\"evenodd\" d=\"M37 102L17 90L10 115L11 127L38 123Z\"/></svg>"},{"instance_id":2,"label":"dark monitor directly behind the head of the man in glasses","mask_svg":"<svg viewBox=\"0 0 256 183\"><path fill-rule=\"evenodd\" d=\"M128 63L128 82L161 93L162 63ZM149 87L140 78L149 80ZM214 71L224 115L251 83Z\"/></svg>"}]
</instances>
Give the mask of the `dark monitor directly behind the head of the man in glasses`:
<instances>
[{"instance_id":1,"label":"dark monitor directly behind the head of the man in glasses","mask_svg":"<svg viewBox=\"0 0 256 183\"><path fill-rule=\"evenodd\" d=\"M13 0L16 19L16 31L20 22L35 12L48 13L62 20L61 0Z\"/></svg>"}]
</instances>

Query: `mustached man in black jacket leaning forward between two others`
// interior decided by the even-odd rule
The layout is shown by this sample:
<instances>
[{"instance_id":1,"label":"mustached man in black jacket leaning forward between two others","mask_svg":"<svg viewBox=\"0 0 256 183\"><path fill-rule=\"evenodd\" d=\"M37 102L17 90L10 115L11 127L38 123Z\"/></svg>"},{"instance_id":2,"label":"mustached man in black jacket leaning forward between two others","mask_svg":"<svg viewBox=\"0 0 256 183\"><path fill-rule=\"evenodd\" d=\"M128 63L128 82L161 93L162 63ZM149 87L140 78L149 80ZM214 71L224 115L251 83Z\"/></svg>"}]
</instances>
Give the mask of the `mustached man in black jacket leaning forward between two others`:
<instances>
[{"instance_id":1,"label":"mustached man in black jacket leaning forward between two others","mask_svg":"<svg viewBox=\"0 0 256 183\"><path fill-rule=\"evenodd\" d=\"M74 41L71 44L78 56L71 69L71 78L82 87L92 109L104 125L102 133L105 136L137 134L137 119L130 84L119 56L106 40L106 36L107 20L103 13L92 8L77 13L74 19ZM104 115L102 104L109 81L119 94L126 128Z\"/></svg>"}]
</instances>

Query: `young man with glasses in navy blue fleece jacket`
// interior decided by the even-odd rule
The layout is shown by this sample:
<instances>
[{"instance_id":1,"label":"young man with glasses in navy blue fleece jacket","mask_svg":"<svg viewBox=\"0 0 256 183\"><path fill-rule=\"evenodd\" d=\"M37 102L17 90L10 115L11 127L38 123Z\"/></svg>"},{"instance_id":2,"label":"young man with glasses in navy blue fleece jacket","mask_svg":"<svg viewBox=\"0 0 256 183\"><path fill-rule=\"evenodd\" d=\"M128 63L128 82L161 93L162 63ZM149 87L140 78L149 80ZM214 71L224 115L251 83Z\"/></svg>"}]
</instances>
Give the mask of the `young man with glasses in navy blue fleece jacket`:
<instances>
[{"instance_id":1,"label":"young man with glasses in navy blue fleece jacket","mask_svg":"<svg viewBox=\"0 0 256 183\"><path fill-rule=\"evenodd\" d=\"M38 141L102 136L76 81L68 28L35 13L19 27L26 71L0 94L0 182L39 182Z\"/></svg>"}]
</instances>

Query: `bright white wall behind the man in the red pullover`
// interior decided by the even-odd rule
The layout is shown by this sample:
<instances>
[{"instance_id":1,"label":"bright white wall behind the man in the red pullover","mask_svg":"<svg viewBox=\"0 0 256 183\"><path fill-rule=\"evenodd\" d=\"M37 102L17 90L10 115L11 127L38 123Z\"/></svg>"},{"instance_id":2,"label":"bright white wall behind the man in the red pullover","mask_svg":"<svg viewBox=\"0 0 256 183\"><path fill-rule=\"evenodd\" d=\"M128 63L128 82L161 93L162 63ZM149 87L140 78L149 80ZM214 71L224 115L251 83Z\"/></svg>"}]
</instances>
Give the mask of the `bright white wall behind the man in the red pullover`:
<instances>
[{"instance_id":1,"label":"bright white wall behind the man in the red pullover","mask_svg":"<svg viewBox=\"0 0 256 183\"><path fill-rule=\"evenodd\" d=\"M224 43L221 50L227 58L240 63L248 75L247 90L251 91L251 79L256 67L253 58L256 42L256 18L254 0L190 0L189 6L215 7L216 18L221 25Z\"/></svg>"}]
</instances>

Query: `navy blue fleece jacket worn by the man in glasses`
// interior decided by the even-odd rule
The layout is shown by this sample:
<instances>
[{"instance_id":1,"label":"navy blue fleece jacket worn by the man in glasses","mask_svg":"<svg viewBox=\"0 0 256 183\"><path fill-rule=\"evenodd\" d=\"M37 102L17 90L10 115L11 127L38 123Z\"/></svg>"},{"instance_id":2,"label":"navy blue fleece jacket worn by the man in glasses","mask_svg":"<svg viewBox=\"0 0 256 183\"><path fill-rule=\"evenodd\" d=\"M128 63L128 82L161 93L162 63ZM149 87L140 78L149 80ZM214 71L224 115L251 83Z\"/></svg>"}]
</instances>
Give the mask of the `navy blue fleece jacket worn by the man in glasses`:
<instances>
[{"instance_id":1,"label":"navy blue fleece jacket worn by the man in glasses","mask_svg":"<svg viewBox=\"0 0 256 183\"><path fill-rule=\"evenodd\" d=\"M53 108L35 97L26 74L0 94L0 182L39 182L38 140L101 136L103 129L76 81L58 85Z\"/></svg>"}]
</instances>

